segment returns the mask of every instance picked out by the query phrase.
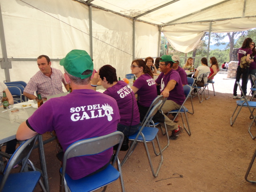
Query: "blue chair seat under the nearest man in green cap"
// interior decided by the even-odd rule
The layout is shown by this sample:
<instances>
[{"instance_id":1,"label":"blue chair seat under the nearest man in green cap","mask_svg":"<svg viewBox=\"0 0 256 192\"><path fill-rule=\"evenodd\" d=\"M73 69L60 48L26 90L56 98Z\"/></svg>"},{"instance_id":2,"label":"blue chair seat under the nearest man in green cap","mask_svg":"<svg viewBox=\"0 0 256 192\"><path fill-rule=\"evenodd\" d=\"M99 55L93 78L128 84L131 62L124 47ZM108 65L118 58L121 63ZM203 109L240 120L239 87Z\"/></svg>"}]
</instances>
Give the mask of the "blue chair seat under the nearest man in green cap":
<instances>
[{"instance_id":1,"label":"blue chair seat under the nearest man in green cap","mask_svg":"<svg viewBox=\"0 0 256 192\"><path fill-rule=\"evenodd\" d=\"M62 168L60 168L60 173L62 173ZM106 177L106 175L108 175L108 177ZM72 192L89 192L114 182L119 176L119 171L109 164L106 169L91 176L73 180L68 174L65 174L65 179ZM86 186L86 188L84 186Z\"/></svg>"}]
</instances>

